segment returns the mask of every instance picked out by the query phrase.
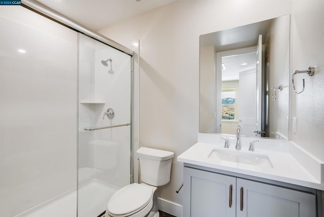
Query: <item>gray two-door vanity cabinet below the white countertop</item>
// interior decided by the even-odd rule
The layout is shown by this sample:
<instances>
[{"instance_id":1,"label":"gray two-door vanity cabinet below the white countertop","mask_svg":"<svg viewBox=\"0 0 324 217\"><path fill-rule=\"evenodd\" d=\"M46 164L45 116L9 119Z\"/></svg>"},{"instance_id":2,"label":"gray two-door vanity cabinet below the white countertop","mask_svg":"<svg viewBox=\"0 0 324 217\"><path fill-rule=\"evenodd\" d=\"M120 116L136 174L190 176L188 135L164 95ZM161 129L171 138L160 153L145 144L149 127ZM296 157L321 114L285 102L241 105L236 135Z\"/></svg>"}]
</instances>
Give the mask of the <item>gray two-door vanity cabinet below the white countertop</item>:
<instances>
[{"instance_id":1,"label":"gray two-door vanity cabinet below the white countertop","mask_svg":"<svg viewBox=\"0 0 324 217\"><path fill-rule=\"evenodd\" d=\"M305 191L184 167L184 217L315 217Z\"/></svg>"}]
</instances>

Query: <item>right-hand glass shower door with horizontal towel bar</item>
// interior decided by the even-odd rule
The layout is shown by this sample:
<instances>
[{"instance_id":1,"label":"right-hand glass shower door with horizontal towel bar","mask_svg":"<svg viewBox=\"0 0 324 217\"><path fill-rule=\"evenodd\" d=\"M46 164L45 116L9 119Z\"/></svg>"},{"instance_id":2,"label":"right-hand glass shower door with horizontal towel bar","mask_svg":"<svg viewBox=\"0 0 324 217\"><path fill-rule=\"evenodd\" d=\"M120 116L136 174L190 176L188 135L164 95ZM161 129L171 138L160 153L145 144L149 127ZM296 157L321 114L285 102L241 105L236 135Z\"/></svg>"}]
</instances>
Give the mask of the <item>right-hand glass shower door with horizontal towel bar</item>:
<instances>
[{"instance_id":1,"label":"right-hand glass shower door with horizontal towel bar","mask_svg":"<svg viewBox=\"0 0 324 217\"><path fill-rule=\"evenodd\" d=\"M131 183L131 56L79 34L78 217Z\"/></svg>"}]
</instances>

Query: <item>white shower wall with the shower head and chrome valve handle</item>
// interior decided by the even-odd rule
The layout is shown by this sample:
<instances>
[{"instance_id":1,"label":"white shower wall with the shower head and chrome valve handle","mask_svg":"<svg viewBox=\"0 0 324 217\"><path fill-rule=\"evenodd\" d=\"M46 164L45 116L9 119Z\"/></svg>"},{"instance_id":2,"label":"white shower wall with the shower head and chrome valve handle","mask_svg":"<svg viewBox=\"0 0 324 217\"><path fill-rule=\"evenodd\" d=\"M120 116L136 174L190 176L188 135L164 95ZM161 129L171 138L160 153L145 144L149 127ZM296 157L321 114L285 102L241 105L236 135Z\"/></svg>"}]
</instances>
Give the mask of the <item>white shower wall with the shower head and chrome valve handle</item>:
<instances>
[{"instance_id":1,"label":"white shower wall with the shower head and chrome valve handle","mask_svg":"<svg viewBox=\"0 0 324 217\"><path fill-rule=\"evenodd\" d=\"M101 60L108 61L108 67ZM131 123L131 56L96 43L95 98L104 101L95 106L95 127ZM114 117L104 113L111 107ZM95 131L95 177L103 182L124 187L130 184L131 127L123 126Z\"/></svg>"}]
</instances>

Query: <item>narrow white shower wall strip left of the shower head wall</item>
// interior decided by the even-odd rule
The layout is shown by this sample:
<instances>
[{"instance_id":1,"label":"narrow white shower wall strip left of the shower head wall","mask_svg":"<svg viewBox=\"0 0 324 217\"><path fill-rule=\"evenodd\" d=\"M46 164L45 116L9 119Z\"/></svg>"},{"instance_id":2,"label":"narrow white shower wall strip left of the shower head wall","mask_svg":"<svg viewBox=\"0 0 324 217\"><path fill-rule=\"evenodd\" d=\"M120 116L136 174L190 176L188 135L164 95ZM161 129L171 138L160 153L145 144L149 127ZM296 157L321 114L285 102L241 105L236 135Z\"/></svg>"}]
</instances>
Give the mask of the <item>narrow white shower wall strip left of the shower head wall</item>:
<instances>
[{"instance_id":1,"label":"narrow white shower wall strip left of the shower head wall","mask_svg":"<svg viewBox=\"0 0 324 217\"><path fill-rule=\"evenodd\" d=\"M79 35L79 102L94 102L95 99L95 44L89 37ZM99 104L98 106L102 106ZM95 153L91 141L95 140L94 131L85 131L84 128L95 126L96 104L79 103L78 106L78 184L82 185L95 178Z\"/></svg>"}]
</instances>

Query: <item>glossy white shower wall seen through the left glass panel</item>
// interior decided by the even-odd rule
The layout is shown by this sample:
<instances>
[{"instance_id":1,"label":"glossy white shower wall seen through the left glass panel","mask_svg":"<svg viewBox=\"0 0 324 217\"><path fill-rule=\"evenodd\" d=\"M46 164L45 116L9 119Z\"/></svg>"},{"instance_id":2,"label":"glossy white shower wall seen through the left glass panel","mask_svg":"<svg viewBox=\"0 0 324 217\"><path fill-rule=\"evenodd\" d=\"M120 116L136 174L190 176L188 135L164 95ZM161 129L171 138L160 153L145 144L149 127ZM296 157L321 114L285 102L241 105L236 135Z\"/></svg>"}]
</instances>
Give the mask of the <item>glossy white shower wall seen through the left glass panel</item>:
<instances>
[{"instance_id":1,"label":"glossy white shower wall seen through the left glass panel","mask_svg":"<svg viewBox=\"0 0 324 217\"><path fill-rule=\"evenodd\" d=\"M76 188L77 33L23 7L0 14L0 216L15 216Z\"/></svg>"}]
</instances>

